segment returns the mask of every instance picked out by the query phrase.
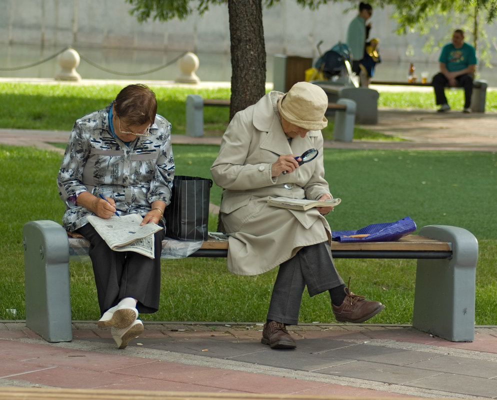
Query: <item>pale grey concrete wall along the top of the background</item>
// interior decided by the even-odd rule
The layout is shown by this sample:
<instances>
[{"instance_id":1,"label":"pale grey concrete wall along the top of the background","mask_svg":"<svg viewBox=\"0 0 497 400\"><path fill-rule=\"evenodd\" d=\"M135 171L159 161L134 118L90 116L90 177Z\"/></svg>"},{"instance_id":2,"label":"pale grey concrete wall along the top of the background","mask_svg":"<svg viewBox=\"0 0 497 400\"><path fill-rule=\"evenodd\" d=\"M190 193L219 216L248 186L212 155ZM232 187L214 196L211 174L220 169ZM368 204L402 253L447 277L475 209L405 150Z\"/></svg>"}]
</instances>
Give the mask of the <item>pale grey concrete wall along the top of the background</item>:
<instances>
[{"instance_id":1,"label":"pale grey concrete wall along the top of the background","mask_svg":"<svg viewBox=\"0 0 497 400\"><path fill-rule=\"evenodd\" d=\"M317 56L316 43L325 51L345 39L356 11L349 2L328 3L318 10L302 9L293 0L281 0L263 10L268 54ZM129 15L124 0L0 0L0 44L107 47L150 50L189 50L229 53L227 6L211 6L202 17L196 11L186 20L140 24ZM417 34L397 36L391 9L373 12L371 37L379 37L383 61L436 62L438 51L425 54L426 40ZM497 32L497 29L493 28ZM452 26L438 29L449 40ZM490 31L490 35L493 34ZM411 46L413 53L407 55ZM492 57L497 58L497 57Z\"/></svg>"}]
</instances>

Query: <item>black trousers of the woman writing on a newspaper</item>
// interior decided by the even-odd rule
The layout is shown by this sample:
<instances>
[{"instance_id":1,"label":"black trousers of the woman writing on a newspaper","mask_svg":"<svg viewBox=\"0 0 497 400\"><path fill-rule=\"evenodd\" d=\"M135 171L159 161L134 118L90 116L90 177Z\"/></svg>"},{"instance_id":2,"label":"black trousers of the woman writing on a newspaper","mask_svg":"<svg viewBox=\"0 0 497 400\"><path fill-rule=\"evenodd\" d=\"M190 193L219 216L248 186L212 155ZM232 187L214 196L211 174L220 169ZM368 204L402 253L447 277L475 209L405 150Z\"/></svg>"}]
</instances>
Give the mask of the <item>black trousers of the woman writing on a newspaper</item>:
<instances>
[{"instance_id":1,"label":"black trousers of the woman writing on a newspaper","mask_svg":"<svg viewBox=\"0 0 497 400\"><path fill-rule=\"evenodd\" d=\"M91 224L84 225L76 232L90 242L88 254L93 264L100 314L124 297L132 297L138 301L136 308L139 313L150 314L158 310L163 229L154 235L153 260L132 251L110 250Z\"/></svg>"}]
</instances>

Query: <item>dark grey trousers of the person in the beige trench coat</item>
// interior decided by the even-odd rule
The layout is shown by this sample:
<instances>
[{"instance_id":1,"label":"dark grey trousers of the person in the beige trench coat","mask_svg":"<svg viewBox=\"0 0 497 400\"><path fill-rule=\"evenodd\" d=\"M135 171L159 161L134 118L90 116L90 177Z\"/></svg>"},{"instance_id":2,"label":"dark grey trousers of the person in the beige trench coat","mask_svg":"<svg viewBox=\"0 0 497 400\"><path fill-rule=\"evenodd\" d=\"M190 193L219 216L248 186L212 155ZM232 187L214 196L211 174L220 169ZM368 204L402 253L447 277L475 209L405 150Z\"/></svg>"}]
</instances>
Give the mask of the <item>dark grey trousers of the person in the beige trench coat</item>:
<instances>
[{"instance_id":1,"label":"dark grey trousers of the person in the beige trench coat","mask_svg":"<svg viewBox=\"0 0 497 400\"><path fill-rule=\"evenodd\" d=\"M305 286L312 297L340 285L343 280L333 264L329 243L302 247L279 266L267 319L296 325Z\"/></svg>"}]
</instances>

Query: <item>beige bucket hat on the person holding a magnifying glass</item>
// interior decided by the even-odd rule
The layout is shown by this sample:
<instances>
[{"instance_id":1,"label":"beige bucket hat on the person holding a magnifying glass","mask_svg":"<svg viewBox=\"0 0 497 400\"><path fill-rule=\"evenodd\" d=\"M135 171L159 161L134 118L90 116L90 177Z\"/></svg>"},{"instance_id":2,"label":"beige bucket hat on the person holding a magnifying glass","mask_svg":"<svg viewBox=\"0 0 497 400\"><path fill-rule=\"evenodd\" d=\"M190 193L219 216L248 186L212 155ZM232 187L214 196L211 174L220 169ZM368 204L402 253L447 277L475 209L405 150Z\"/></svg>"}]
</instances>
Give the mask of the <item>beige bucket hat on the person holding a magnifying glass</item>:
<instances>
[{"instance_id":1,"label":"beige bucket hat on the person holding a magnifying glass","mask_svg":"<svg viewBox=\"0 0 497 400\"><path fill-rule=\"evenodd\" d=\"M278 101L279 115L300 128L319 130L327 126L324 113L328 96L319 86L309 82L295 83Z\"/></svg>"}]
</instances>

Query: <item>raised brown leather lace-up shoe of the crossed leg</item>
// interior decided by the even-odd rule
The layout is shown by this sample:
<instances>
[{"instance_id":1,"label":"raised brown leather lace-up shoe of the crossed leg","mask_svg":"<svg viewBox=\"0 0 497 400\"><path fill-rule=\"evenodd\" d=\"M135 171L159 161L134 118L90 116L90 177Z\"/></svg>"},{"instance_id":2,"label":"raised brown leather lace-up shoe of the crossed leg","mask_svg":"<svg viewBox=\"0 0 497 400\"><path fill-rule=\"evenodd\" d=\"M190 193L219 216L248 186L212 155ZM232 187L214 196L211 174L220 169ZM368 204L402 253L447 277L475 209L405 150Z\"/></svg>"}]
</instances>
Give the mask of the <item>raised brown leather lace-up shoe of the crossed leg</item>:
<instances>
[{"instance_id":1,"label":"raised brown leather lace-up shoe of the crossed leg","mask_svg":"<svg viewBox=\"0 0 497 400\"><path fill-rule=\"evenodd\" d=\"M363 296L354 295L345 288L345 299L339 306L331 304L333 314L338 322L358 324L374 317L385 308L380 302L365 300Z\"/></svg>"}]
</instances>

